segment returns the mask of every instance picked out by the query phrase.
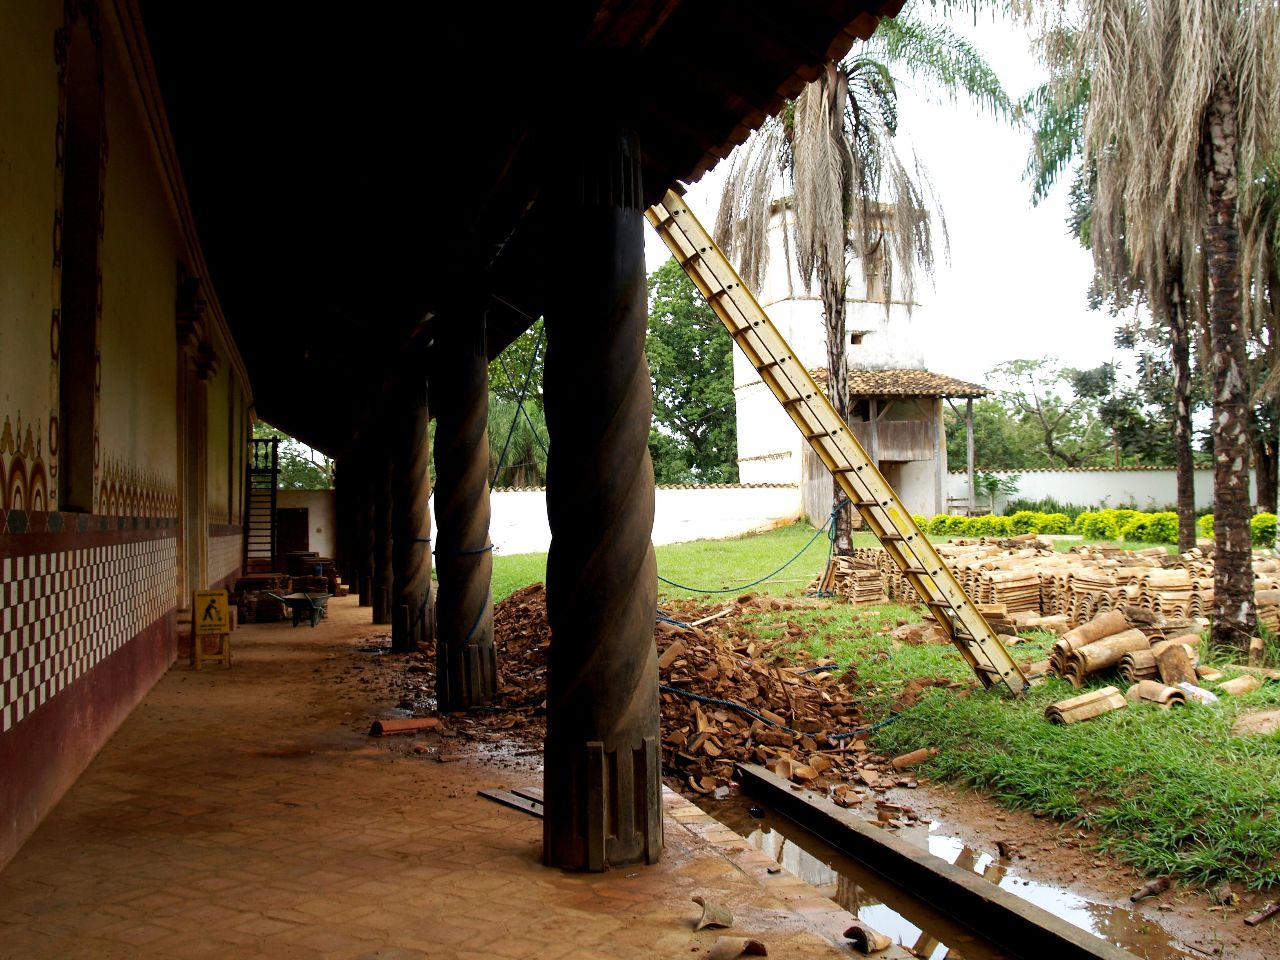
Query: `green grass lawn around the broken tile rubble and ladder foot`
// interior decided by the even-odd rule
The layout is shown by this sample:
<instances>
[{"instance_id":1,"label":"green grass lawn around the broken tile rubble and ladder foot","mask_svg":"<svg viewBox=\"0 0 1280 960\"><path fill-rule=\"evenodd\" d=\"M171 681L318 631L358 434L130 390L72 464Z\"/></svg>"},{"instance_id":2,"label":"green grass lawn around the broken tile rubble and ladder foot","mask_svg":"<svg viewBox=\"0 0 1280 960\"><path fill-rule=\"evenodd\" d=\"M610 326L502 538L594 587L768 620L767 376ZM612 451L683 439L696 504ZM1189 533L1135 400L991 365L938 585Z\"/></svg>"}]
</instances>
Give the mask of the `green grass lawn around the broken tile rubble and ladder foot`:
<instances>
[{"instance_id":1,"label":"green grass lawn around the broken tile rubble and ladder foot","mask_svg":"<svg viewBox=\"0 0 1280 960\"><path fill-rule=\"evenodd\" d=\"M813 534L801 524L737 540L660 547L658 572L677 584L728 589L727 595L760 577L767 582L750 590L800 593L826 562L826 534L801 553ZM855 545L874 543L867 534L858 538ZM774 572L797 553L799 559ZM544 573L545 554L495 557L494 598ZM695 595L658 586L659 603ZM755 627L778 639L780 655L826 655L847 664L860 681L864 716L876 721L893 716L890 705L913 677L973 680L955 648L905 645L890 635L899 623L919 620L919 609L896 604L836 604L762 613ZM801 641L782 640L787 621L806 628ZM1033 635L1012 653L1023 660L1043 659L1052 640ZM1123 687L1112 675L1096 686L1108 684ZM1078 692L1055 677L1018 700L998 690L959 695L933 689L877 730L870 742L886 754L936 746L938 755L922 773L1088 828L1101 849L1146 873L1204 884L1280 882L1280 735L1230 733L1238 714L1280 708L1280 685L1210 707L1129 707L1068 727L1044 719L1048 704Z\"/></svg>"}]
</instances>

